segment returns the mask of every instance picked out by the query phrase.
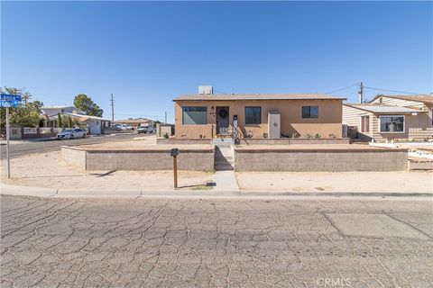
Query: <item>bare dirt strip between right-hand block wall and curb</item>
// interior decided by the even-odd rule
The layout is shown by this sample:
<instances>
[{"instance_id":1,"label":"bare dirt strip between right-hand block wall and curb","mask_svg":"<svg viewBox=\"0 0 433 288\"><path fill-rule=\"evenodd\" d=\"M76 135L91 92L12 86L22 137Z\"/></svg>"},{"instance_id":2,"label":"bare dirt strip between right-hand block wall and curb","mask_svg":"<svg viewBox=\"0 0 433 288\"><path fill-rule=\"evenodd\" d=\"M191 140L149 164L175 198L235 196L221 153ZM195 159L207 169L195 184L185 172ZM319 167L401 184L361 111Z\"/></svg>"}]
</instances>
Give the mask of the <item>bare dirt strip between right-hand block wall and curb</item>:
<instances>
[{"instance_id":1,"label":"bare dirt strip between right-hand block wall and curb","mask_svg":"<svg viewBox=\"0 0 433 288\"><path fill-rule=\"evenodd\" d=\"M432 172L238 172L241 190L290 192L433 192Z\"/></svg>"}]
</instances>

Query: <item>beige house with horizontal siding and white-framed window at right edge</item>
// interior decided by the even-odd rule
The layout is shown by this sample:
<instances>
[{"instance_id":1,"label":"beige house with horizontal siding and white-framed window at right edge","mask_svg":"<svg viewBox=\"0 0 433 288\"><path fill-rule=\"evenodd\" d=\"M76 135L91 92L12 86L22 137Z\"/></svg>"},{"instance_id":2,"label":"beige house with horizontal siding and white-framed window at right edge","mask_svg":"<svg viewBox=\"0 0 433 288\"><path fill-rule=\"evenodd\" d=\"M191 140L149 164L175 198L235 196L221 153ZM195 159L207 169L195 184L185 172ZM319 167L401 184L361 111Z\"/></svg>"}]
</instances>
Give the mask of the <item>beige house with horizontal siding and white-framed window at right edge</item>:
<instances>
[{"instance_id":1,"label":"beige house with horizontal siding and white-framed window at right edge","mask_svg":"<svg viewBox=\"0 0 433 288\"><path fill-rule=\"evenodd\" d=\"M343 124L360 139L433 139L433 95L382 95L344 103Z\"/></svg>"}]
</instances>

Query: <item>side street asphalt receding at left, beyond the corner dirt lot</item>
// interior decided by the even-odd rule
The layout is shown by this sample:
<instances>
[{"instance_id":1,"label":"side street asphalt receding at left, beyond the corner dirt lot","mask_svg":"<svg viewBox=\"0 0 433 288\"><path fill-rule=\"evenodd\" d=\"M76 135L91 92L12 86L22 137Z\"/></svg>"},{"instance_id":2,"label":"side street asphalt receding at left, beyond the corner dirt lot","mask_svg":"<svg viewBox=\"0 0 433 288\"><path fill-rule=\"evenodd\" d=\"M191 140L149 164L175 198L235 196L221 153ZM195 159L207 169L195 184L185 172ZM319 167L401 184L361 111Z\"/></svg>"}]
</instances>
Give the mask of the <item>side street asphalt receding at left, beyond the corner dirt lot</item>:
<instances>
[{"instance_id":1,"label":"side street asphalt receding at left, beyond the corner dirt lot","mask_svg":"<svg viewBox=\"0 0 433 288\"><path fill-rule=\"evenodd\" d=\"M140 137L146 137L147 135L140 134ZM60 150L60 146L76 146L81 144L97 144L104 142L114 142L114 141L124 141L131 140L139 137L137 133L132 134L115 134L115 136L104 135L97 137L88 137L86 139L42 139L42 140L20 140L20 141L10 141L10 156L20 157L32 153L44 153L55 150ZM6 146L5 141L2 141L1 149L1 159L6 157Z\"/></svg>"}]
</instances>

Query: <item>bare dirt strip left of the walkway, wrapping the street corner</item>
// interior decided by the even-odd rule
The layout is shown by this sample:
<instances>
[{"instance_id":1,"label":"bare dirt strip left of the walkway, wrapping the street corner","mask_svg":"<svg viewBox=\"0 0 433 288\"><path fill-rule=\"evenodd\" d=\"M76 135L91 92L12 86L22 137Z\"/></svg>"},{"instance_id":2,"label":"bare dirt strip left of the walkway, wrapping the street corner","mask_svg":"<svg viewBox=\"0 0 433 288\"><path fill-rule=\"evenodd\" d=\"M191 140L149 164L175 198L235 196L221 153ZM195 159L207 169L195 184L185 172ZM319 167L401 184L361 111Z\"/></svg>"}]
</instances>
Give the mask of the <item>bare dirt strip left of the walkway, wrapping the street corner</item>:
<instances>
[{"instance_id":1,"label":"bare dirt strip left of the walkway, wrapping the street corner","mask_svg":"<svg viewBox=\"0 0 433 288\"><path fill-rule=\"evenodd\" d=\"M6 177L6 162L1 161L1 182L32 187L86 190L172 190L171 171L85 171L69 165L60 151L31 154L11 159L11 179ZM213 174L180 171L179 186L197 189L213 181Z\"/></svg>"}]
</instances>

